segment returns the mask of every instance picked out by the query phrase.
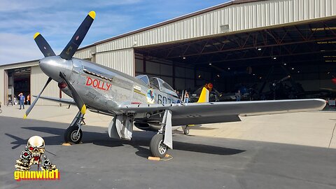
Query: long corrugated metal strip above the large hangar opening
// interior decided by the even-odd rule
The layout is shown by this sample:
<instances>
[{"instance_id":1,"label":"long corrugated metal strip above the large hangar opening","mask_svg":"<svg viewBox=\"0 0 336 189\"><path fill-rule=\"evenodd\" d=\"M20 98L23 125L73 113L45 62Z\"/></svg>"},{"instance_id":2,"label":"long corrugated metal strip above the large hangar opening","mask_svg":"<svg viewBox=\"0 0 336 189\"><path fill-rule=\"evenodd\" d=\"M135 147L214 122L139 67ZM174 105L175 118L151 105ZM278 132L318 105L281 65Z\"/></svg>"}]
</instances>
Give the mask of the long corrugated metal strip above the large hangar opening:
<instances>
[{"instance_id":1,"label":"long corrugated metal strip above the large hangar opening","mask_svg":"<svg viewBox=\"0 0 336 189\"><path fill-rule=\"evenodd\" d=\"M271 0L241 3L99 44L97 52L222 34L221 25L229 25L229 31L232 32L335 15L335 0Z\"/></svg>"}]
</instances>

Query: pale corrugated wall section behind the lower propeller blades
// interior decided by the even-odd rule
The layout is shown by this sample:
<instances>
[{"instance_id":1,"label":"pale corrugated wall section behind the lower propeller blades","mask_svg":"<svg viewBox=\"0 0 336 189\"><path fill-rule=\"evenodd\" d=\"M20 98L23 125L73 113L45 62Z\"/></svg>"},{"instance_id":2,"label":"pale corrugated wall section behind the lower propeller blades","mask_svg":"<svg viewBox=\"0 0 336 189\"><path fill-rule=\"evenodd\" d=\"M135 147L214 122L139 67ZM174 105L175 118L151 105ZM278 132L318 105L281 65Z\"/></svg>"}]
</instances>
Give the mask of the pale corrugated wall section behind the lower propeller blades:
<instances>
[{"instance_id":1,"label":"pale corrugated wall section behind the lower propeller blades","mask_svg":"<svg viewBox=\"0 0 336 189\"><path fill-rule=\"evenodd\" d=\"M45 82L47 82L48 76L43 73L43 71L40 69L39 66L32 66L31 67L31 95L37 95L39 92L41 92L43 86L45 85ZM55 80L52 80L48 87L45 88L43 91L42 96L46 97L59 97L59 87L57 86L57 82ZM64 92L62 92L62 98L70 98L68 95L66 95ZM31 96L31 101L34 101L34 97ZM59 105L58 102L51 102L44 99L38 99L38 102L36 105Z\"/></svg>"}]
</instances>

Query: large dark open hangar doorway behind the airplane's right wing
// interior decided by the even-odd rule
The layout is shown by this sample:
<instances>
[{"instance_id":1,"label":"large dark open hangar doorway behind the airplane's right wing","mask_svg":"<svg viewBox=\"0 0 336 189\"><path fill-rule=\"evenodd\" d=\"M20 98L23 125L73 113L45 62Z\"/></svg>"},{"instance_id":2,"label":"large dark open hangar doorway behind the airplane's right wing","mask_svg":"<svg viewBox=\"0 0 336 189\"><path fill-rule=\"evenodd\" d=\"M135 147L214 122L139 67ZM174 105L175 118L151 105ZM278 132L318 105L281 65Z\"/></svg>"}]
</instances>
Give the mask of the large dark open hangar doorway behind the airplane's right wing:
<instances>
[{"instance_id":1,"label":"large dark open hangar doorway behind the airplane's right wing","mask_svg":"<svg viewBox=\"0 0 336 189\"><path fill-rule=\"evenodd\" d=\"M193 91L211 82L222 100L237 90L246 93L246 100L335 98L330 90L336 89L335 19L135 48L135 52L140 57L136 56L139 73L151 75L144 62L168 62L175 67L167 76L173 87ZM179 73L176 66L187 71ZM165 80L162 69L154 70Z\"/></svg>"}]
</instances>

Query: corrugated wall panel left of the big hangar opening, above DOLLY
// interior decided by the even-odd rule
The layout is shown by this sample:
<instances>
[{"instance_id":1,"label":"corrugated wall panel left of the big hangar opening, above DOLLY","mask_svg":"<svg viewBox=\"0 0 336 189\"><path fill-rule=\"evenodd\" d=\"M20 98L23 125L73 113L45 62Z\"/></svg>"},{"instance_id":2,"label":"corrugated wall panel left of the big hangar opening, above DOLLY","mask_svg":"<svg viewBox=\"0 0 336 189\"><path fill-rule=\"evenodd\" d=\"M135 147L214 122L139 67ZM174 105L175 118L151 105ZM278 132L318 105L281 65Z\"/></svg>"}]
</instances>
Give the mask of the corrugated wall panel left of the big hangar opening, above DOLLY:
<instances>
[{"instance_id":1,"label":"corrugated wall panel left of the big hangar opening, above DOLLY","mask_svg":"<svg viewBox=\"0 0 336 189\"><path fill-rule=\"evenodd\" d=\"M97 53L96 62L135 76L133 48Z\"/></svg>"}]
</instances>

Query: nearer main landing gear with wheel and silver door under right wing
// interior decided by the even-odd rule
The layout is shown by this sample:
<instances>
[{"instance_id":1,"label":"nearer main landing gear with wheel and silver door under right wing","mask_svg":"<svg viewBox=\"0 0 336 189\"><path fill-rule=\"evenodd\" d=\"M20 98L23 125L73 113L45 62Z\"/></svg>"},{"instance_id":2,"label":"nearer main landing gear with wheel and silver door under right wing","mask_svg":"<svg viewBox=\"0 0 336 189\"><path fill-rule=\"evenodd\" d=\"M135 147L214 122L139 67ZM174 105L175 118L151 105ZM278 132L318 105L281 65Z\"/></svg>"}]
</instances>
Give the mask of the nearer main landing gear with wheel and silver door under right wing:
<instances>
[{"instance_id":1,"label":"nearer main landing gear with wheel and silver door under right wing","mask_svg":"<svg viewBox=\"0 0 336 189\"><path fill-rule=\"evenodd\" d=\"M166 110L162 119L162 127L151 140L151 153L154 157L164 158L168 148L173 149L172 111Z\"/></svg>"}]
</instances>

